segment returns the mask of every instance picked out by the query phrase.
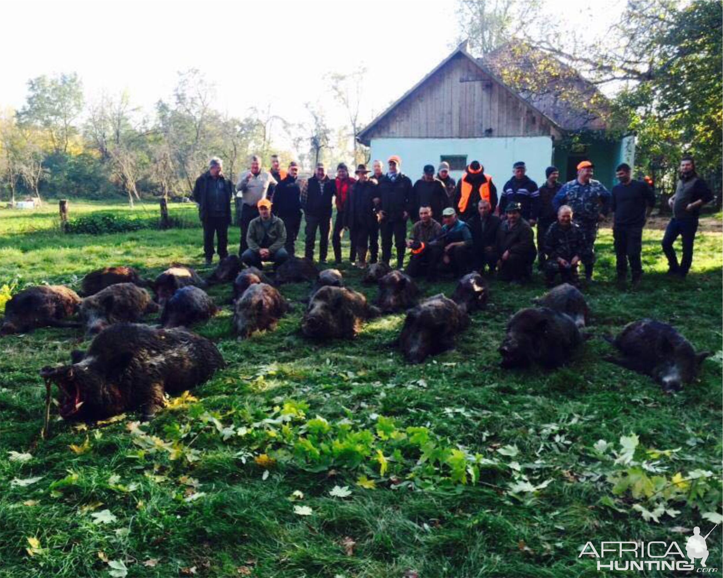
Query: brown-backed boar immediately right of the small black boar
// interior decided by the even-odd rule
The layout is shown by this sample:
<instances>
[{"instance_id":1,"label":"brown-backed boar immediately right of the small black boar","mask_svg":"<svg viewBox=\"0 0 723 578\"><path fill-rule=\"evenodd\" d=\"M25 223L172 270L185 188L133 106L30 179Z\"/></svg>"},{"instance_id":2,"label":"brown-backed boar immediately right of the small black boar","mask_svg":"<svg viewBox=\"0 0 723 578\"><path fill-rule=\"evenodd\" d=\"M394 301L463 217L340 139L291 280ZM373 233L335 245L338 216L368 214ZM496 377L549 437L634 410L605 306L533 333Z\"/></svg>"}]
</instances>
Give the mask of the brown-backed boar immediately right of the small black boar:
<instances>
[{"instance_id":1,"label":"brown-backed boar immediately right of the small black boar","mask_svg":"<svg viewBox=\"0 0 723 578\"><path fill-rule=\"evenodd\" d=\"M249 285L234 306L234 329L239 340L255 331L273 331L286 311L288 303L276 288L267 283Z\"/></svg>"}]
</instances>

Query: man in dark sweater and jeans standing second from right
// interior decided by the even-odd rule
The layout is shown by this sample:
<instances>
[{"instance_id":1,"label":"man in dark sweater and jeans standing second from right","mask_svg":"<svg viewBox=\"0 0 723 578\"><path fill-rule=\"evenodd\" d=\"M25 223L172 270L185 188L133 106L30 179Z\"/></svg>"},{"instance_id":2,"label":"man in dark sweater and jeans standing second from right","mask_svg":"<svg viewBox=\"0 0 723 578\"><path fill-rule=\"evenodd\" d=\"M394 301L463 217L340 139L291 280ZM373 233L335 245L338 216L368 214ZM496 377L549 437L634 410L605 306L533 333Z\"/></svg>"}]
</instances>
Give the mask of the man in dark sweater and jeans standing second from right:
<instances>
[{"instance_id":1,"label":"man in dark sweater and jeans standing second from right","mask_svg":"<svg viewBox=\"0 0 723 578\"><path fill-rule=\"evenodd\" d=\"M643 181L633 181L630 178L630 165L627 163L617 165L615 176L620 184L612 187L610 210L615 214L612 238L615 242L617 285L620 288L625 287L630 261L633 288L636 288L643 275L640 258L643 251L643 226L655 206L655 194Z\"/></svg>"}]
</instances>

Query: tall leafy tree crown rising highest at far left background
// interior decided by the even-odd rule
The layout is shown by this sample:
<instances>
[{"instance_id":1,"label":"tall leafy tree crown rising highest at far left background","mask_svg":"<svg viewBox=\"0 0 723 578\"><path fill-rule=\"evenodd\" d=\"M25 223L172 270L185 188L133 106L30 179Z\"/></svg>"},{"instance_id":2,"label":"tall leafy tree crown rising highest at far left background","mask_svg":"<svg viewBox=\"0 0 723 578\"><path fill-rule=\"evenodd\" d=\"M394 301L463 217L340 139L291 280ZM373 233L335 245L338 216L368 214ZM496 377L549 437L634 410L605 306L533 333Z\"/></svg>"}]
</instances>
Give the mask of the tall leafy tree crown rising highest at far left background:
<instances>
[{"instance_id":1,"label":"tall leafy tree crown rising highest at far left background","mask_svg":"<svg viewBox=\"0 0 723 578\"><path fill-rule=\"evenodd\" d=\"M18 113L21 125L46 131L56 153L68 152L73 122L83 108L82 82L76 73L45 75L27 82L27 103Z\"/></svg>"}]
</instances>

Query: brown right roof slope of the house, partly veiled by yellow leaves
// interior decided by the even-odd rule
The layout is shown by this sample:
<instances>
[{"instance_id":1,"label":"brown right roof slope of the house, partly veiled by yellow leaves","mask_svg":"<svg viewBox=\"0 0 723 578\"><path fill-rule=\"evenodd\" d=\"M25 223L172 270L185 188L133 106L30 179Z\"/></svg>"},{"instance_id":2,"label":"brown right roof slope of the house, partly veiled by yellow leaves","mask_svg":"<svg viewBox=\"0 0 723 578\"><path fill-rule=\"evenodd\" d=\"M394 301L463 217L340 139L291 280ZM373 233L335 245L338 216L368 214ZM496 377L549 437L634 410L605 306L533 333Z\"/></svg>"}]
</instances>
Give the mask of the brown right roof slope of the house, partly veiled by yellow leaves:
<instances>
[{"instance_id":1,"label":"brown right roof slope of the house, partly veiled by yellow leaves","mask_svg":"<svg viewBox=\"0 0 723 578\"><path fill-rule=\"evenodd\" d=\"M500 46L479 62L565 131L607 128L607 98L555 56L515 42Z\"/></svg>"}]
</instances>

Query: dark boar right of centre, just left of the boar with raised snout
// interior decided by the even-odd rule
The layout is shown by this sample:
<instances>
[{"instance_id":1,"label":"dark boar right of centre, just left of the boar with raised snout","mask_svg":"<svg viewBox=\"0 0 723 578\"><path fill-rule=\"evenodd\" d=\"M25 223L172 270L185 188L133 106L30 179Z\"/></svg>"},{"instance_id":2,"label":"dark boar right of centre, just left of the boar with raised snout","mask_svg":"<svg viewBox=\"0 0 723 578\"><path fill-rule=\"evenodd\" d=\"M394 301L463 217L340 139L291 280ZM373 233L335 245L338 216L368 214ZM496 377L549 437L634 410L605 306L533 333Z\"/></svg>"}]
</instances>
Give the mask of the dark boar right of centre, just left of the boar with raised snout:
<instances>
[{"instance_id":1,"label":"dark boar right of centre, just left of the boar with raised snout","mask_svg":"<svg viewBox=\"0 0 723 578\"><path fill-rule=\"evenodd\" d=\"M398 346L409 363L422 363L428 355L454 348L455 335L469 325L461 306L435 295L407 311Z\"/></svg>"}]
</instances>

